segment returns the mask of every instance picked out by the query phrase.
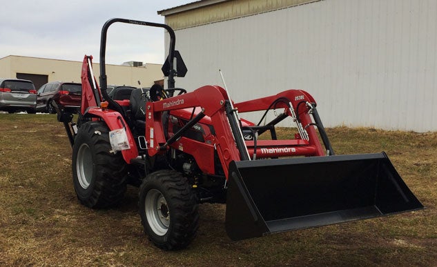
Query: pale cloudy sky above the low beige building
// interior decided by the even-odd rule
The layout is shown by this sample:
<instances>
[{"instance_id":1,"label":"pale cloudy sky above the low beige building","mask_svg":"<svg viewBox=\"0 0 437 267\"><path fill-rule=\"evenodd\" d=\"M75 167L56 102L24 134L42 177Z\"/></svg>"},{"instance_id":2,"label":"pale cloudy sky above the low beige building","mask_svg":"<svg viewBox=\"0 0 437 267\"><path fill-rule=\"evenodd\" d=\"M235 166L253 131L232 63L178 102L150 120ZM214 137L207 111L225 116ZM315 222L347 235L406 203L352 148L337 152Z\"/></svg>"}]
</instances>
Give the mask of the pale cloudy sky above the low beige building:
<instances>
[{"instance_id":1,"label":"pale cloudy sky above the low beige building","mask_svg":"<svg viewBox=\"0 0 437 267\"><path fill-rule=\"evenodd\" d=\"M0 58L8 55L99 61L101 27L115 17L164 23L157 14L195 0L9 0L2 3ZM114 23L106 63L164 63L164 30Z\"/></svg>"}]
</instances>

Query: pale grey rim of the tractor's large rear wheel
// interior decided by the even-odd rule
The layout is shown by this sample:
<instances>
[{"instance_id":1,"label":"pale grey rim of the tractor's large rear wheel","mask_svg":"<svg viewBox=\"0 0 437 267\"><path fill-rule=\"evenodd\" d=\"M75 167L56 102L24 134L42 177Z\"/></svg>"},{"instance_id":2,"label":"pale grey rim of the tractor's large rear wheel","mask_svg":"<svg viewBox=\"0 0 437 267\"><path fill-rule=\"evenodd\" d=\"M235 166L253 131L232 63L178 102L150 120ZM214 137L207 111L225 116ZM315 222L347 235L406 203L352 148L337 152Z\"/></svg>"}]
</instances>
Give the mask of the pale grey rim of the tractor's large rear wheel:
<instances>
[{"instance_id":1,"label":"pale grey rim of the tractor's large rear wheel","mask_svg":"<svg viewBox=\"0 0 437 267\"><path fill-rule=\"evenodd\" d=\"M86 189L93 179L93 156L87 144L81 144L79 147L76 162L77 179L80 186Z\"/></svg>"}]
</instances>

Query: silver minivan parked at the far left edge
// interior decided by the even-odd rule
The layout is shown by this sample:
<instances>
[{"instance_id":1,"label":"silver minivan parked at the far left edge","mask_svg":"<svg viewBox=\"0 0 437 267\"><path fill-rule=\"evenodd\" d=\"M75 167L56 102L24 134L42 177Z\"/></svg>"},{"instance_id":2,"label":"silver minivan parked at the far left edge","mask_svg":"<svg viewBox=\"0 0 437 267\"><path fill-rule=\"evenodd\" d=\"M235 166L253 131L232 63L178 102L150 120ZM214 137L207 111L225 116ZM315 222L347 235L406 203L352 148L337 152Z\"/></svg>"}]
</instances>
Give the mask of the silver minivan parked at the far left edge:
<instances>
[{"instance_id":1,"label":"silver minivan parked at the far left edge","mask_svg":"<svg viewBox=\"0 0 437 267\"><path fill-rule=\"evenodd\" d=\"M0 110L35 113L37 90L32 81L0 78Z\"/></svg>"}]
</instances>

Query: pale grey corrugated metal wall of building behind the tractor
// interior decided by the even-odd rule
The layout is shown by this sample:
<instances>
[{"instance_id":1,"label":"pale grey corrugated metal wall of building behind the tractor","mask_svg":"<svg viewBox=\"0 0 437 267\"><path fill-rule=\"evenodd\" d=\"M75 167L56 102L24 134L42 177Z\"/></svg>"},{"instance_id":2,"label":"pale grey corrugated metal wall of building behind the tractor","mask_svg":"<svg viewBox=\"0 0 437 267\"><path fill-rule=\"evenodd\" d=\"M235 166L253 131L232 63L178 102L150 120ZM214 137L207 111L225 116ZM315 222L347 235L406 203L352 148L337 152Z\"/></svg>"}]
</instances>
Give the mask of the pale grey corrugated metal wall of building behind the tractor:
<instances>
[{"instance_id":1,"label":"pale grey corrugated metal wall of building behind the tractor","mask_svg":"<svg viewBox=\"0 0 437 267\"><path fill-rule=\"evenodd\" d=\"M437 130L436 0L324 0L176 34L179 87L221 85L221 68L235 101L299 88L325 126Z\"/></svg>"}]
</instances>

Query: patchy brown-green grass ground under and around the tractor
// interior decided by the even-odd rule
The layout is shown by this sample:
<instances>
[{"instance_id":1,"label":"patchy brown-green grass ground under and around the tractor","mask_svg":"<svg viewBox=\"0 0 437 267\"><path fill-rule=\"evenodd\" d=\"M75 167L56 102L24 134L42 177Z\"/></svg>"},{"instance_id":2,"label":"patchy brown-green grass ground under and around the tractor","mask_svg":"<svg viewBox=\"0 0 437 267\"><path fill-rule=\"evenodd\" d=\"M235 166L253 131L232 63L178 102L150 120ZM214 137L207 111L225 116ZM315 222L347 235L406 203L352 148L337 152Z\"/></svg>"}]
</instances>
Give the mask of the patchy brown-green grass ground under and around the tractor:
<instances>
[{"instance_id":1,"label":"patchy brown-green grass ground under and around the tractor","mask_svg":"<svg viewBox=\"0 0 437 267\"><path fill-rule=\"evenodd\" d=\"M0 266L436 266L437 132L327 132L336 154L385 150L427 208L231 241L225 206L202 204L193 244L164 252L144 235L137 188L118 208L79 204L70 144L55 115L0 114Z\"/></svg>"}]
</instances>

